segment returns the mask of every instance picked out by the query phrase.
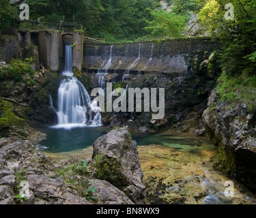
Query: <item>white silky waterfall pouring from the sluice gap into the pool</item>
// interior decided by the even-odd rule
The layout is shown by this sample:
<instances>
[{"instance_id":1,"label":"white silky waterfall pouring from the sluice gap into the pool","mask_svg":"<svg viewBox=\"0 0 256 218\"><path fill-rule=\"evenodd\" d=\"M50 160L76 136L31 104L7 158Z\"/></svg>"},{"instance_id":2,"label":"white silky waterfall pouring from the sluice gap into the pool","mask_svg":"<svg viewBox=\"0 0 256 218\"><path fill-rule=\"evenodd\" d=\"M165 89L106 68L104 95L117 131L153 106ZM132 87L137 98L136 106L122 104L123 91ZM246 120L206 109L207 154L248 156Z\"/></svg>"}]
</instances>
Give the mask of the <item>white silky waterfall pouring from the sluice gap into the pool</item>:
<instances>
[{"instance_id":1,"label":"white silky waterfall pouring from the sluice gap into the pool","mask_svg":"<svg viewBox=\"0 0 256 218\"><path fill-rule=\"evenodd\" d=\"M58 90L57 126L70 129L72 127L101 125L100 108L91 99L83 84L73 77L72 47L66 46L65 69ZM51 105L53 103L51 102Z\"/></svg>"}]
</instances>

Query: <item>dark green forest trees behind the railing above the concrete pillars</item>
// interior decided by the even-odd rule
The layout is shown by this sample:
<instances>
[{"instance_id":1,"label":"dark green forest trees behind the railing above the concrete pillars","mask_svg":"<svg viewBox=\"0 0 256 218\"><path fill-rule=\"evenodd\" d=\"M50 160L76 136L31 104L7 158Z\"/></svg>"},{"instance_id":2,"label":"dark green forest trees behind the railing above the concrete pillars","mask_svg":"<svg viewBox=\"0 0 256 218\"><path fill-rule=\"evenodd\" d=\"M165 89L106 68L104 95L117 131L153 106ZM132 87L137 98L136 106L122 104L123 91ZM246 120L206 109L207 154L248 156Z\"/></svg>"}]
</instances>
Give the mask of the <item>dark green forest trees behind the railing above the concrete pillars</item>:
<instances>
[{"instance_id":1,"label":"dark green forest trees behind the railing above the concrete pillars","mask_svg":"<svg viewBox=\"0 0 256 218\"><path fill-rule=\"evenodd\" d=\"M3 11L0 13L0 22L2 16L18 18L16 12L19 10L10 5L9 0L3 1L3 7L0 6L0 12ZM150 10L158 6L158 0L29 0L29 18L40 18L41 22L59 23L63 20L80 23L85 31L76 30L79 33L105 38L107 42L120 42L145 35L143 27L151 18Z\"/></svg>"}]
</instances>

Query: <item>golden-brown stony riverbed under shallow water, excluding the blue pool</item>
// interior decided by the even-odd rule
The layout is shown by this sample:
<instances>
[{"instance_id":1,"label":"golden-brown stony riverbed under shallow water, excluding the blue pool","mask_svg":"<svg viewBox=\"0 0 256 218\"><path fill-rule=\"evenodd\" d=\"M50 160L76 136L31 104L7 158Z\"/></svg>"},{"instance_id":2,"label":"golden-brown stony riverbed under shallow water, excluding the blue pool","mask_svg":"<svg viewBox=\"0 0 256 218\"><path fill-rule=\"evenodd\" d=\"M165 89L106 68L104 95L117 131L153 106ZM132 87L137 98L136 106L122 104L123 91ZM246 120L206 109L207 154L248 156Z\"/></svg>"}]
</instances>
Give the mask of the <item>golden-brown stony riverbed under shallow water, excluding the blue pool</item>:
<instances>
[{"instance_id":1,"label":"golden-brown stony riverbed under shallow water, excluding the blue pool","mask_svg":"<svg viewBox=\"0 0 256 218\"><path fill-rule=\"evenodd\" d=\"M193 142L195 137L190 135L187 140ZM236 181L234 197L225 197L224 185L230 179L212 167L217 147L207 138L198 138L198 142L197 146L176 144L175 149L159 144L137 146L147 200L151 204L256 204L256 196ZM46 153L55 163L74 157L91 158L92 154L92 146Z\"/></svg>"}]
</instances>

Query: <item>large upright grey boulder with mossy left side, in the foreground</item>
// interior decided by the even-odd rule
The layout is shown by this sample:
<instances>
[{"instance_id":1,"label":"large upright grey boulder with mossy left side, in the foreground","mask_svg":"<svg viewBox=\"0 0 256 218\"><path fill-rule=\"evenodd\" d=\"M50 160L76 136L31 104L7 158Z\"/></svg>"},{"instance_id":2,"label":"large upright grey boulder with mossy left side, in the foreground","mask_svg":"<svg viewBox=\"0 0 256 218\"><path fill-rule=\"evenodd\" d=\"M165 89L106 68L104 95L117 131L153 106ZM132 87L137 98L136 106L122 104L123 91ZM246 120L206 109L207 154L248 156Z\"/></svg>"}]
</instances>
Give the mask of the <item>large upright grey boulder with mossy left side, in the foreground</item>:
<instances>
[{"instance_id":1,"label":"large upright grey boulder with mossy left side, in the foreground","mask_svg":"<svg viewBox=\"0 0 256 218\"><path fill-rule=\"evenodd\" d=\"M137 142L123 127L114 129L94 142L92 166L97 178L109 181L137 204L145 204L143 173Z\"/></svg>"}]
</instances>

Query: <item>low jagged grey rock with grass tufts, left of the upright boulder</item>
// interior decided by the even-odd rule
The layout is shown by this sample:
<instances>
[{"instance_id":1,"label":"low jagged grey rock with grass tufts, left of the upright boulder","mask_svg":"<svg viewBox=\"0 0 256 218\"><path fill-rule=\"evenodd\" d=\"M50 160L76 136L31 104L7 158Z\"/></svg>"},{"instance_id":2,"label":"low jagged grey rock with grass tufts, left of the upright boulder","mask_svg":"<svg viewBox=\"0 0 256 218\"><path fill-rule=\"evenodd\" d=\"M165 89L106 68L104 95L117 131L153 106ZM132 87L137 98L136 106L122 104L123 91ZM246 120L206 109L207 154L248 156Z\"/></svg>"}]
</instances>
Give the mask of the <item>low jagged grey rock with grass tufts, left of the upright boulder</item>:
<instances>
[{"instance_id":1,"label":"low jagged grey rock with grass tufts, left of the upright boulder","mask_svg":"<svg viewBox=\"0 0 256 218\"><path fill-rule=\"evenodd\" d=\"M111 183L85 172L85 160L55 166L29 141L0 139L0 204L133 204Z\"/></svg>"}]
</instances>

